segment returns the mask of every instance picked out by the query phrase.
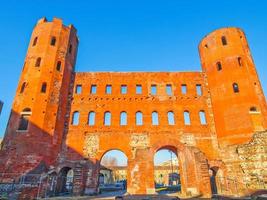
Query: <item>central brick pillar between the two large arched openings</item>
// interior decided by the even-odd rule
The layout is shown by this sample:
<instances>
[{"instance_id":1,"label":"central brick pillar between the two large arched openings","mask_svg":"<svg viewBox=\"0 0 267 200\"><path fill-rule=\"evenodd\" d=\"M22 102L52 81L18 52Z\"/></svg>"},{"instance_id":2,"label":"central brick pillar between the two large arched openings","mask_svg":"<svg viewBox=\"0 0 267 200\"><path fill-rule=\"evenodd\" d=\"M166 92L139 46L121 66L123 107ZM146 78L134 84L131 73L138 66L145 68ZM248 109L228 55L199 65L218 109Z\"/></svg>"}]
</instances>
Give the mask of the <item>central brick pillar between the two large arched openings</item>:
<instances>
[{"instance_id":1,"label":"central brick pillar between the two large arched openings","mask_svg":"<svg viewBox=\"0 0 267 200\"><path fill-rule=\"evenodd\" d=\"M135 149L128 159L127 192L130 194L154 194L153 153L149 148Z\"/></svg>"}]
</instances>

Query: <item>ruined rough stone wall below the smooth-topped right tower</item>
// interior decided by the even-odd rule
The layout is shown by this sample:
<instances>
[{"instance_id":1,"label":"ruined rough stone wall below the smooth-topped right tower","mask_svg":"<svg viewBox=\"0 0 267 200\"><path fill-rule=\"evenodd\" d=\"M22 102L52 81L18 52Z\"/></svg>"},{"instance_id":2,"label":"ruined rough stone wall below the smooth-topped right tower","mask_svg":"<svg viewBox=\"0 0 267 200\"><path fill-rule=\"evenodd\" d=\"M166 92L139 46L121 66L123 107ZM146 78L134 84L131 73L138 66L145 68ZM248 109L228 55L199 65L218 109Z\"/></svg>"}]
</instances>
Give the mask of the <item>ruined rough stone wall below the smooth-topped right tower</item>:
<instances>
[{"instance_id":1,"label":"ruined rough stone wall below the smooth-topped right tower","mask_svg":"<svg viewBox=\"0 0 267 200\"><path fill-rule=\"evenodd\" d=\"M247 144L222 149L221 157L226 171L223 172L224 180L217 182L227 183L228 186L220 188L219 192L246 193L267 188L267 131L256 132Z\"/></svg>"}]
</instances>

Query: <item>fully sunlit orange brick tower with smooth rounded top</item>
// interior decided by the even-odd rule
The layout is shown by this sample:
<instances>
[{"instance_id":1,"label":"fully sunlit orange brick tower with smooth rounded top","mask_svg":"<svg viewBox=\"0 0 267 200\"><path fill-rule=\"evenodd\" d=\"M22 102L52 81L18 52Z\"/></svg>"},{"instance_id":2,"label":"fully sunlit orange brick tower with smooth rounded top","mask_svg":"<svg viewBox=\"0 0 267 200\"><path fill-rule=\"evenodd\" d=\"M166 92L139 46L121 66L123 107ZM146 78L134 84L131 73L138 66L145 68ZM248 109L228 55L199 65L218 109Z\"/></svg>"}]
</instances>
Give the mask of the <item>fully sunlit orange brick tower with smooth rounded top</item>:
<instances>
[{"instance_id":1,"label":"fully sunlit orange brick tower with smooth rounded top","mask_svg":"<svg viewBox=\"0 0 267 200\"><path fill-rule=\"evenodd\" d=\"M244 32L222 28L199 44L221 145L248 141L267 129L267 107Z\"/></svg>"}]
</instances>

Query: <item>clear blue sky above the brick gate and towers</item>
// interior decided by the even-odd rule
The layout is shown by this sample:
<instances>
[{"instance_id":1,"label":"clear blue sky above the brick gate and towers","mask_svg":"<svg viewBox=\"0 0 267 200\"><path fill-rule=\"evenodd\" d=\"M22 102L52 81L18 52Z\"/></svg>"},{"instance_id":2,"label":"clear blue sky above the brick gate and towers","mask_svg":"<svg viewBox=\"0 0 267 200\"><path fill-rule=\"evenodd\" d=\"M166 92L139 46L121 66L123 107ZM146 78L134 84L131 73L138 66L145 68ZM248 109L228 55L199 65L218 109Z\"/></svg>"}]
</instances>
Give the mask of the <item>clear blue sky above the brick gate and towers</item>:
<instances>
[{"instance_id":1,"label":"clear blue sky above the brick gate and towers","mask_svg":"<svg viewBox=\"0 0 267 200\"><path fill-rule=\"evenodd\" d=\"M198 43L209 32L242 28L267 92L267 1L1 1L0 116L3 136L36 21L60 17L78 29L77 71L200 70Z\"/></svg>"}]
</instances>

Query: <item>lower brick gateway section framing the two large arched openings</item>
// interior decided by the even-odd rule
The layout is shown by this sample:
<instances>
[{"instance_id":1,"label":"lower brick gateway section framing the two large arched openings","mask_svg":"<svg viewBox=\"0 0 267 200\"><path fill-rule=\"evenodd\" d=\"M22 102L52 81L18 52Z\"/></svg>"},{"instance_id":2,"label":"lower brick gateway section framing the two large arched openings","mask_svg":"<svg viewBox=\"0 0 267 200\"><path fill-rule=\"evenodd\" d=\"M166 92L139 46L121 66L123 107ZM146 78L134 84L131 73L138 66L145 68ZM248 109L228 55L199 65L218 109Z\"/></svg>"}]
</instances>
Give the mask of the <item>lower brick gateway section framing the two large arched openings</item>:
<instances>
[{"instance_id":1,"label":"lower brick gateway section framing the two large arched openings","mask_svg":"<svg viewBox=\"0 0 267 200\"><path fill-rule=\"evenodd\" d=\"M117 140L114 140L113 136L109 134L95 135L94 137L98 138L96 140L99 143L98 149L95 149L97 152L94 155L91 154L91 159L93 158L97 168L91 177L91 180L94 179L95 182L86 186L88 193L92 193L98 187L99 161L102 156L112 149L119 149L128 158L127 192L130 194L155 194L154 155L164 148L179 155L182 194L211 195L207 158L198 148L181 144L173 136L159 138L159 135L154 133L139 133L129 136L117 133L119 138Z\"/></svg>"}]
</instances>

